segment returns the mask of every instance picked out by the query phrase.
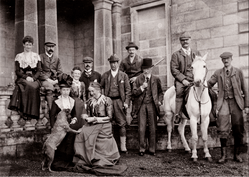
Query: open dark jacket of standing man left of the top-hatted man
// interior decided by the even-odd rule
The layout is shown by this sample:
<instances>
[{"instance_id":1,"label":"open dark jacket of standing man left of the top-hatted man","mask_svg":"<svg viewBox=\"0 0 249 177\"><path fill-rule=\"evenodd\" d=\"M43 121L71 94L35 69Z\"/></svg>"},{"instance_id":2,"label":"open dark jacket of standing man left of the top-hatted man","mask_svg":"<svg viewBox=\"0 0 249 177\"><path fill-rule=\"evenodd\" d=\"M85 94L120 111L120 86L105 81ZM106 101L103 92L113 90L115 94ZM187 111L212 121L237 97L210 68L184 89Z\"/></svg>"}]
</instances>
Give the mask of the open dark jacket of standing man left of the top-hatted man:
<instances>
[{"instance_id":1,"label":"open dark jacket of standing man left of the top-hatted man","mask_svg":"<svg viewBox=\"0 0 249 177\"><path fill-rule=\"evenodd\" d=\"M122 71L118 71L118 88L121 100L123 103L130 104L131 99L131 87L127 74ZM104 89L104 95L108 96L111 83L111 70L105 72L101 77L101 86Z\"/></svg>"}]
</instances>

